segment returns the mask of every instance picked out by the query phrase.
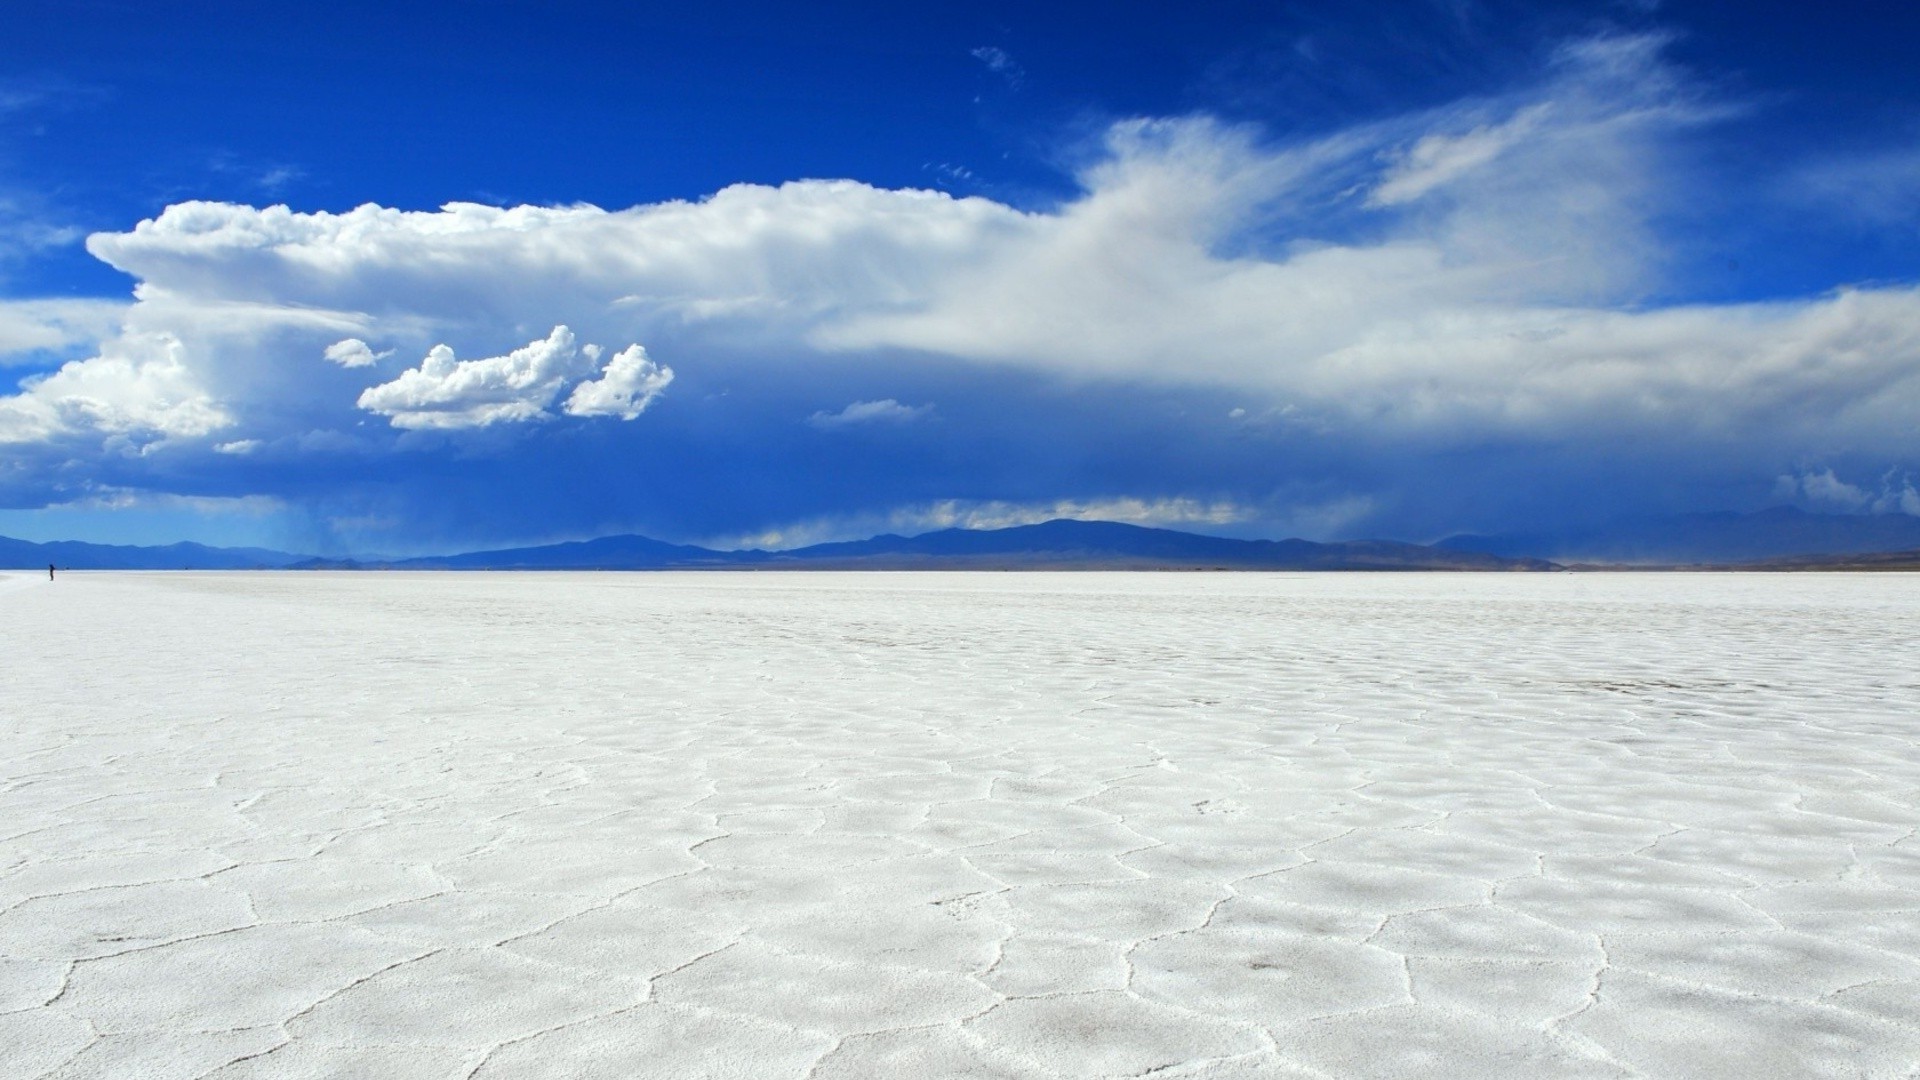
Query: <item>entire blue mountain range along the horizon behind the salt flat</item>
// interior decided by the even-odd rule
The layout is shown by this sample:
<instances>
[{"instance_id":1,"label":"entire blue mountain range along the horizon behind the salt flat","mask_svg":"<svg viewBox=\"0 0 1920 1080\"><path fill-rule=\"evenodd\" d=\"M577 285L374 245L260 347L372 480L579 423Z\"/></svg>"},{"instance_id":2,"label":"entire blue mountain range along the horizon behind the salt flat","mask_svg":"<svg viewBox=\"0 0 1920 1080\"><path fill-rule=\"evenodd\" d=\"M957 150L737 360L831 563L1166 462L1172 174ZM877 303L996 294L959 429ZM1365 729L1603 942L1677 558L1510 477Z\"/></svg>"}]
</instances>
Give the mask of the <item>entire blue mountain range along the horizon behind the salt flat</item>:
<instances>
[{"instance_id":1,"label":"entire blue mountain range along the horizon behind the salt flat","mask_svg":"<svg viewBox=\"0 0 1920 1080\"><path fill-rule=\"evenodd\" d=\"M0 536L0 567L38 569L1156 569L1156 571L1548 571L1561 565L1899 569L1920 563L1920 517L1816 515L1791 507L1695 513L1561 532L1398 540L1231 540L1112 521L943 528L789 552L720 552L647 536L601 536L409 559L321 559L265 548L134 548Z\"/></svg>"}]
</instances>

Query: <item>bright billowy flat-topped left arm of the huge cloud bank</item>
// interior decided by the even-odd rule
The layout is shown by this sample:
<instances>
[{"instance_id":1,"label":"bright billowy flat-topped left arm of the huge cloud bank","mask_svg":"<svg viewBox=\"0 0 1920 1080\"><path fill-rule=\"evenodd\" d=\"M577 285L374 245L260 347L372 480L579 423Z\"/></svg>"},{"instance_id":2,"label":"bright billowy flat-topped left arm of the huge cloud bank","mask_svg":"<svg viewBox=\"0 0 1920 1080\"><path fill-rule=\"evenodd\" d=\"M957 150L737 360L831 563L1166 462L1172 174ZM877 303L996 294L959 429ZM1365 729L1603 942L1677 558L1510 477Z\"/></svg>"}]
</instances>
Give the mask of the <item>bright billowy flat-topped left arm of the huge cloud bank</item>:
<instances>
[{"instance_id":1,"label":"bright billowy flat-topped left arm of the huge cloud bank","mask_svg":"<svg viewBox=\"0 0 1920 1080\"><path fill-rule=\"evenodd\" d=\"M296 213L186 202L88 252L173 304L334 311L422 327L753 323L791 334L847 306L908 304L1025 215L854 181L735 184L703 202ZM553 313L568 319L553 319Z\"/></svg>"}]
</instances>

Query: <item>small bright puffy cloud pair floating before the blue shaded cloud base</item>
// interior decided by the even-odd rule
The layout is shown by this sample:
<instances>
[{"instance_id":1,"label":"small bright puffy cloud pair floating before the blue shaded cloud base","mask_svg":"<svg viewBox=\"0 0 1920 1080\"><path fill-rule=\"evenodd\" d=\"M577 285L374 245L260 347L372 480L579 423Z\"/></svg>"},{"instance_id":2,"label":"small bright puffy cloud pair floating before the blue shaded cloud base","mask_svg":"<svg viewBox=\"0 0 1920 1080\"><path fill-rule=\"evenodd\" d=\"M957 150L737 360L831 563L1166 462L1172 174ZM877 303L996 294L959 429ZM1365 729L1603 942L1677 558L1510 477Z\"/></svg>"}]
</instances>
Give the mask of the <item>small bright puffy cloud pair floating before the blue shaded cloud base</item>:
<instances>
[{"instance_id":1,"label":"small bright puffy cloud pair floating before the blue shaded cloud base","mask_svg":"<svg viewBox=\"0 0 1920 1080\"><path fill-rule=\"evenodd\" d=\"M576 348L566 327L553 327L545 340L486 359L455 359L449 346L438 344L420 367L369 386L357 404L399 429L451 430L549 419L547 405L566 382L593 375L599 357L599 346ZM564 411L634 419L672 379L670 369L655 365L639 346L630 346L607 363L599 380L578 382Z\"/></svg>"}]
</instances>

